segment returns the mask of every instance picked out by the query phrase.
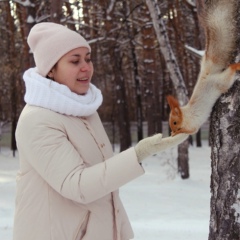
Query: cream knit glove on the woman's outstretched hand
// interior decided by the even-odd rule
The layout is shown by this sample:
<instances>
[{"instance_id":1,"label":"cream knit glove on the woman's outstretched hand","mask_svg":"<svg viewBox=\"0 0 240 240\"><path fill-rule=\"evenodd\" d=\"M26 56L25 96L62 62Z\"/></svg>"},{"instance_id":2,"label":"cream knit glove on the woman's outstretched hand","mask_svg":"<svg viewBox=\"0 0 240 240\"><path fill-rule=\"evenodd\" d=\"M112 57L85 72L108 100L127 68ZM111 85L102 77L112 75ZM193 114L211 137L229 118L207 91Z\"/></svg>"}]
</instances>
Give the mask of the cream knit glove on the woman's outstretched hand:
<instances>
[{"instance_id":1,"label":"cream knit glove on the woman's outstretched hand","mask_svg":"<svg viewBox=\"0 0 240 240\"><path fill-rule=\"evenodd\" d=\"M159 133L152 137L144 138L135 146L138 162L142 162L146 157L157 152L177 146L186 140L188 136L188 134L181 133L174 137L162 138L162 134Z\"/></svg>"}]
</instances>

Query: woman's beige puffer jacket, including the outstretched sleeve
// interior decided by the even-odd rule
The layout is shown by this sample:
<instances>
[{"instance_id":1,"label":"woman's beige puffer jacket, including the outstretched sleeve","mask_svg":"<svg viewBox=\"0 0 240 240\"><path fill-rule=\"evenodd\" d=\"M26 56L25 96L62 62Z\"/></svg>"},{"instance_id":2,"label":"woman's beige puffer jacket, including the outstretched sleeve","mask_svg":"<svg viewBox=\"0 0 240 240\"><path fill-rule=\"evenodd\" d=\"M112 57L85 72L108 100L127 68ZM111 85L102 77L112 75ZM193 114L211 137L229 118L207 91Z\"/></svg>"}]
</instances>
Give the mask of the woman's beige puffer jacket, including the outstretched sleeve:
<instances>
[{"instance_id":1,"label":"woman's beige puffer jacket, including the outstretched sleeve","mask_svg":"<svg viewBox=\"0 0 240 240\"><path fill-rule=\"evenodd\" d=\"M144 173L134 148L113 156L97 113L72 117L26 105L14 240L126 240L133 232L118 188Z\"/></svg>"}]
</instances>

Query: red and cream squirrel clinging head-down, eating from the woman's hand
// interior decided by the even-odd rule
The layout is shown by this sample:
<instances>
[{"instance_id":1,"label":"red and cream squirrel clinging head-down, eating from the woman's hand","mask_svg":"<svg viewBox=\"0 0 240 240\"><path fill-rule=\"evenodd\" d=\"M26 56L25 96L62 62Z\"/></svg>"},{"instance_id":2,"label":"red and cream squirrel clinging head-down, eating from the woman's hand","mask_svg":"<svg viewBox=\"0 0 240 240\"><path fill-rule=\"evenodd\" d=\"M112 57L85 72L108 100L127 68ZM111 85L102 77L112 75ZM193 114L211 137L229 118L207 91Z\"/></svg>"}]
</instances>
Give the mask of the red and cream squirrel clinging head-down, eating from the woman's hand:
<instances>
[{"instance_id":1,"label":"red and cream squirrel clinging head-down, eating from the woman's hand","mask_svg":"<svg viewBox=\"0 0 240 240\"><path fill-rule=\"evenodd\" d=\"M172 136L196 133L209 117L217 99L235 81L240 63L230 62L237 48L237 2L211 0L199 9L200 24L205 32L205 52L189 102L180 107L178 100L167 96L171 109L169 125Z\"/></svg>"}]
</instances>

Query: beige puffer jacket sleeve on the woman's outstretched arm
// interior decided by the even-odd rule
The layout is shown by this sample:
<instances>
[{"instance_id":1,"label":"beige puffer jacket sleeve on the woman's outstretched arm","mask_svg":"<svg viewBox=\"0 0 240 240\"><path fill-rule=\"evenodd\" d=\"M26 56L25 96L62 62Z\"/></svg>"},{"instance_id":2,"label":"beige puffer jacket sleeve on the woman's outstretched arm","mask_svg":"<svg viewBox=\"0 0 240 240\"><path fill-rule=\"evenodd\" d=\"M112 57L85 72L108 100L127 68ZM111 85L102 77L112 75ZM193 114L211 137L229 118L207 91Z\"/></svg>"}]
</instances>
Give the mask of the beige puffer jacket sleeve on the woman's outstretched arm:
<instances>
[{"instance_id":1,"label":"beige puffer jacket sleeve on the woman's outstretched arm","mask_svg":"<svg viewBox=\"0 0 240 240\"><path fill-rule=\"evenodd\" d=\"M19 155L62 196L90 203L144 173L134 148L86 167L60 120L43 113L28 112L20 118L16 131Z\"/></svg>"}]
</instances>

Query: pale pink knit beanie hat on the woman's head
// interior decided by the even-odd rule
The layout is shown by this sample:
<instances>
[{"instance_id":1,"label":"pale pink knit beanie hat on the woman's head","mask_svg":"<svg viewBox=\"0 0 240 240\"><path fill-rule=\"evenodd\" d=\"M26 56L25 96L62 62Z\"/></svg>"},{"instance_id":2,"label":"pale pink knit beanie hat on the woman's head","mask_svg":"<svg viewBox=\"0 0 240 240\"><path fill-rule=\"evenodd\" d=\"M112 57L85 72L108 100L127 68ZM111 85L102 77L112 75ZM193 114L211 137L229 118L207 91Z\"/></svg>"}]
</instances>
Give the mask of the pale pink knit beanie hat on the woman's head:
<instances>
[{"instance_id":1,"label":"pale pink knit beanie hat on the woman's head","mask_svg":"<svg viewBox=\"0 0 240 240\"><path fill-rule=\"evenodd\" d=\"M34 25L27 42L33 52L37 71L43 77L69 51L79 47L86 47L91 51L91 47L80 34L51 22Z\"/></svg>"}]
</instances>

